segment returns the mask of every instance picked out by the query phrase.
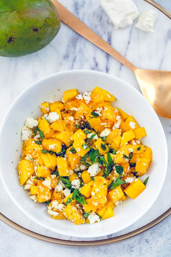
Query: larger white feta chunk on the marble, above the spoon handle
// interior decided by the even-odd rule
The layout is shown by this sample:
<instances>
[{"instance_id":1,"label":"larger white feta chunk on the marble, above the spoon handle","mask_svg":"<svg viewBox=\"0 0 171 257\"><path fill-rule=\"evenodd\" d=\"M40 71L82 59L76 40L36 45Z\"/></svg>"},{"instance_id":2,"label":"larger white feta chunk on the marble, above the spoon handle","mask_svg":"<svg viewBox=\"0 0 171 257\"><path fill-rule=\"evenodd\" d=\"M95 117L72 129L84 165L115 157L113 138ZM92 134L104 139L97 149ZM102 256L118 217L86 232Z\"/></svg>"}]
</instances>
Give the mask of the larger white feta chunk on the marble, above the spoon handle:
<instances>
[{"instance_id":1,"label":"larger white feta chunk on the marble, above the spoon handle","mask_svg":"<svg viewBox=\"0 0 171 257\"><path fill-rule=\"evenodd\" d=\"M139 15L137 6L132 0L100 0L100 4L115 29L133 24Z\"/></svg>"}]
</instances>

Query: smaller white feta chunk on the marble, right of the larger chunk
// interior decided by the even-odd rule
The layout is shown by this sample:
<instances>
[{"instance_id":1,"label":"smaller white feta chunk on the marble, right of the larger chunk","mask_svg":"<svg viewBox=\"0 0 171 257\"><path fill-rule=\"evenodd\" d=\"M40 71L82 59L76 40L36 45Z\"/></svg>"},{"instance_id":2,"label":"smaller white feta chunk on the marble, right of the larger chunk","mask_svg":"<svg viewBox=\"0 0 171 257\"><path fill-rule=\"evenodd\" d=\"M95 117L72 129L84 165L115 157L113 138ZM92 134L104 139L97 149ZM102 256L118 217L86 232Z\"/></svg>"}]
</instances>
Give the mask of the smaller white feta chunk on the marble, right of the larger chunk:
<instances>
[{"instance_id":1,"label":"smaller white feta chunk on the marble, right of the larger chunk","mask_svg":"<svg viewBox=\"0 0 171 257\"><path fill-rule=\"evenodd\" d=\"M145 11L139 16L138 22L135 24L135 27L145 32L155 32L153 27L157 20L157 16L158 14L151 9Z\"/></svg>"}]
</instances>

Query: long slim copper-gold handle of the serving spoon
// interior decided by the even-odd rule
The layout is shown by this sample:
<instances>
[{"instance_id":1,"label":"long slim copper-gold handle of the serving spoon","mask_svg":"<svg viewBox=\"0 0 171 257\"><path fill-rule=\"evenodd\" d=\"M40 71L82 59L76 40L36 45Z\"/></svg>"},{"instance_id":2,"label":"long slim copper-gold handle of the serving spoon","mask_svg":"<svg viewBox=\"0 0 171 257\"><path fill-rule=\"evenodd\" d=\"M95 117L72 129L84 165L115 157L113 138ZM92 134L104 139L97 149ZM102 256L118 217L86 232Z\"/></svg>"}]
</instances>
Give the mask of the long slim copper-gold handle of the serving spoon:
<instances>
[{"instance_id":1,"label":"long slim copper-gold handle of the serving spoon","mask_svg":"<svg viewBox=\"0 0 171 257\"><path fill-rule=\"evenodd\" d=\"M117 52L111 45L104 41L100 36L98 36L94 31L87 27L82 21L80 21L76 16L69 12L62 4L56 0L51 0L56 6L59 17L62 22L68 25L71 29L76 31L78 34L82 35L84 38L88 39L93 44L97 45L106 53L110 54L112 57L120 61L127 68L135 71L136 67L129 62L124 56Z\"/></svg>"}]
</instances>

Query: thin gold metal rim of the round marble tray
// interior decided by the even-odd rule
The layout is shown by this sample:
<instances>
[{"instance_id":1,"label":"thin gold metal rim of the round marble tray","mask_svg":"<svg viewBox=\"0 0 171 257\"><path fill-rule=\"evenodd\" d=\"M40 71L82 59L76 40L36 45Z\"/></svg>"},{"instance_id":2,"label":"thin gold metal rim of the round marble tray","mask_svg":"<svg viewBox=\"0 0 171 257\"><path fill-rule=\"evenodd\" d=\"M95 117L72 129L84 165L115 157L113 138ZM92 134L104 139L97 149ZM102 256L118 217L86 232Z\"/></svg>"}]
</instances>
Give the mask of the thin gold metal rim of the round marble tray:
<instances>
[{"instance_id":1,"label":"thin gold metal rim of the round marble tray","mask_svg":"<svg viewBox=\"0 0 171 257\"><path fill-rule=\"evenodd\" d=\"M160 6L159 4L155 3L152 0L144 0L144 1L153 5L158 10L160 10L162 13L164 13L167 17L169 17L169 19L171 19L171 14L167 10L165 10L162 6ZM36 232L33 232L31 230L28 230L28 229L18 225L17 223L13 222L11 219L5 217L1 213L0 213L0 220L3 221L4 223L6 223L7 225L11 226L12 228L15 228L17 231L22 232L26 235L32 236L36 239L46 241L46 242L49 242L49 243L64 245L64 246L78 246L78 247L81 247L81 246L105 245L105 244L115 243L115 242L119 242L119 241L128 239L130 237L138 235L138 234L140 234L142 232L145 232L146 230L154 227L155 225L157 225L158 223L163 221L165 218L167 218L170 214L171 214L171 208L169 208L165 213L160 215L158 218L154 219L152 222L150 222L147 225L142 226L142 227L140 227L140 228L138 228L138 229L136 229L132 232L126 233L124 235L119 235L119 236L116 236L116 237L113 237L113 238L107 238L107 239L102 239L102 240L97 240L97 241L96 240L95 241L71 241L71 240L63 240L63 239L59 239L59 238L54 238L54 237L41 235L41 234L38 234Z\"/></svg>"}]
</instances>

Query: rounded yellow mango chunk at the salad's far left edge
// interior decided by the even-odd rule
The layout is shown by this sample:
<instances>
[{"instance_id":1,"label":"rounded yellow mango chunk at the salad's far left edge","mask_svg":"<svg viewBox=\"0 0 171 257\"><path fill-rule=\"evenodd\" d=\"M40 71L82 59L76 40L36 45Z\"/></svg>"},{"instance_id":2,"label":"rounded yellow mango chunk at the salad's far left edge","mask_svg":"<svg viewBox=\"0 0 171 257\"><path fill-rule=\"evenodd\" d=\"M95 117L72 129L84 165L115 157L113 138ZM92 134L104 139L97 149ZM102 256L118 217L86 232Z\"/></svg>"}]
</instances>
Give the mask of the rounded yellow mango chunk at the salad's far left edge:
<instances>
[{"instance_id":1,"label":"rounded yellow mango chunk at the salad's far left edge","mask_svg":"<svg viewBox=\"0 0 171 257\"><path fill-rule=\"evenodd\" d=\"M23 185L34 173L34 164L30 160L21 160L18 163L19 183Z\"/></svg>"}]
</instances>

